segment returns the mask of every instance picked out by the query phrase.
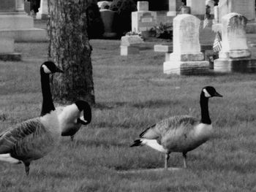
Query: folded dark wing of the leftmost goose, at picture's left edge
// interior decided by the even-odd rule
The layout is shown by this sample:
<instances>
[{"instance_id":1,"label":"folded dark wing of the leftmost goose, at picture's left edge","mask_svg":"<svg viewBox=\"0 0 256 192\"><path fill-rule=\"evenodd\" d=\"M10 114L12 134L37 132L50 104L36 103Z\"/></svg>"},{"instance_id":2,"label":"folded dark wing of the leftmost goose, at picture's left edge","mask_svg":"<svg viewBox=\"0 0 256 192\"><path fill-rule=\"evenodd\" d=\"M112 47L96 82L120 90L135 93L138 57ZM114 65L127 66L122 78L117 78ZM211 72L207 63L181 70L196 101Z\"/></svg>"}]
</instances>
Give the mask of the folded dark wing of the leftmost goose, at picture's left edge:
<instances>
[{"instance_id":1,"label":"folded dark wing of the leftmost goose, at picture's left edge","mask_svg":"<svg viewBox=\"0 0 256 192\"><path fill-rule=\"evenodd\" d=\"M15 145L34 134L39 126L42 126L39 118L34 118L3 131L0 134L0 154L12 153Z\"/></svg>"}]
</instances>

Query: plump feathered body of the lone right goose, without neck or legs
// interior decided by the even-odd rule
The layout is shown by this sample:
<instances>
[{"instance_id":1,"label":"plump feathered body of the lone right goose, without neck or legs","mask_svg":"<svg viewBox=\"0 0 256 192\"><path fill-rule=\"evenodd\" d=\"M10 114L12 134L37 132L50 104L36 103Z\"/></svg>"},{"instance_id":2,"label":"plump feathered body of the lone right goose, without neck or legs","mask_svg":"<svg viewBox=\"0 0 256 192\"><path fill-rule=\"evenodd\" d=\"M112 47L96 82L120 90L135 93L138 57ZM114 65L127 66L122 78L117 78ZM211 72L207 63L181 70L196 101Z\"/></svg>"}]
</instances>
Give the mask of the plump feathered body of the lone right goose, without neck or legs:
<instances>
[{"instance_id":1,"label":"plump feathered body of the lone right goose, without neck or legs","mask_svg":"<svg viewBox=\"0 0 256 192\"><path fill-rule=\"evenodd\" d=\"M147 129L140 137L146 141L156 139L166 152L183 153L202 145L213 134L211 125L205 125L196 118L184 115L162 120Z\"/></svg>"}]
</instances>

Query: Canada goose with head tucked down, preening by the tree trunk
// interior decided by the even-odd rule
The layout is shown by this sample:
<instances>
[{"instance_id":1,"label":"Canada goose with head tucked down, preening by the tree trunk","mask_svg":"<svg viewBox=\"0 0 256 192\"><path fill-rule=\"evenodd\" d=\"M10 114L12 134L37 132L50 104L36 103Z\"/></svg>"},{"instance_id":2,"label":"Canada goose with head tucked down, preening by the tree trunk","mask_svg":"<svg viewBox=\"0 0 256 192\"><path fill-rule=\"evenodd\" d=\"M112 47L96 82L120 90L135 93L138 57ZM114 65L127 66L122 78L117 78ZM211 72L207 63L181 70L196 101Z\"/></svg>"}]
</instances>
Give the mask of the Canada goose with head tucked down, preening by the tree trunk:
<instances>
[{"instance_id":1,"label":"Canada goose with head tucked down, preening by the tree trunk","mask_svg":"<svg viewBox=\"0 0 256 192\"><path fill-rule=\"evenodd\" d=\"M61 136L70 136L72 141L82 125L91 123L91 107L86 101L78 100L67 107L56 107L56 110L61 125Z\"/></svg>"}]
</instances>

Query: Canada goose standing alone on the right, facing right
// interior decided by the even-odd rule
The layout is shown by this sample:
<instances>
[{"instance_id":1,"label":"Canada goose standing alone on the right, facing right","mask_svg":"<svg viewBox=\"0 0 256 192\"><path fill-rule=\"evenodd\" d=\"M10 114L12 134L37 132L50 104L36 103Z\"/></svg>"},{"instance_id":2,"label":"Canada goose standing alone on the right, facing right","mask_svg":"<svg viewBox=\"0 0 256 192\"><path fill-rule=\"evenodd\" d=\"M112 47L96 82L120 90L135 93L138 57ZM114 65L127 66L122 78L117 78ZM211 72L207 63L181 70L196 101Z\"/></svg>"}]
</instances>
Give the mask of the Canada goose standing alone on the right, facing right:
<instances>
[{"instance_id":1,"label":"Canada goose standing alone on the right, facing right","mask_svg":"<svg viewBox=\"0 0 256 192\"><path fill-rule=\"evenodd\" d=\"M208 112L208 99L214 96L222 97L211 86L202 89L200 94L201 120L188 115L161 120L146 128L140 134L140 139L135 140L130 147L148 145L165 153L165 169L167 169L167 161L171 152L182 153L184 167L187 168L187 152L194 150L214 136Z\"/></svg>"}]
</instances>

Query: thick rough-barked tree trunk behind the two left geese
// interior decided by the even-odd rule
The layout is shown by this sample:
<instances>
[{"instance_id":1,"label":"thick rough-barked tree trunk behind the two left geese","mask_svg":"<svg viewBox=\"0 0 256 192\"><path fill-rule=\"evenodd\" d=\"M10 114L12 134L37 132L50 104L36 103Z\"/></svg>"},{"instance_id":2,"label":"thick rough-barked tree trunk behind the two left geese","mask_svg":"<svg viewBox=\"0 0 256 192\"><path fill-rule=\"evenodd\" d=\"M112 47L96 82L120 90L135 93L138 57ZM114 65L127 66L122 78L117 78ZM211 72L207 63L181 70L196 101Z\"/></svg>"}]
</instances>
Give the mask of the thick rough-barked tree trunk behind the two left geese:
<instances>
[{"instance_id":1,"label":"thick rough-barked tree trunk behind the two left geese","mask_svg":"<svg viewBox=\"0 0 256 192\"><path fill-rule=\"evenodd\" d=\"M55 100L95 103L86 5L85 0L48 0L48 56L64 70L64 74L54 74Z\"/></svg>"}]
</instances>

